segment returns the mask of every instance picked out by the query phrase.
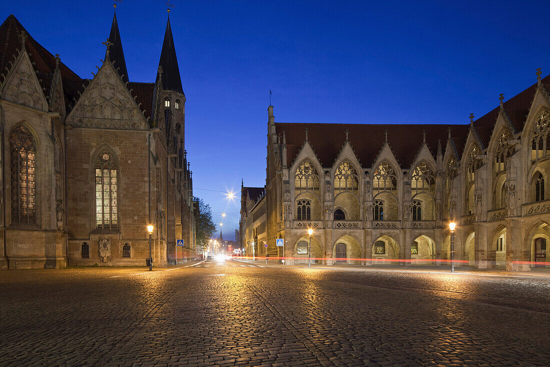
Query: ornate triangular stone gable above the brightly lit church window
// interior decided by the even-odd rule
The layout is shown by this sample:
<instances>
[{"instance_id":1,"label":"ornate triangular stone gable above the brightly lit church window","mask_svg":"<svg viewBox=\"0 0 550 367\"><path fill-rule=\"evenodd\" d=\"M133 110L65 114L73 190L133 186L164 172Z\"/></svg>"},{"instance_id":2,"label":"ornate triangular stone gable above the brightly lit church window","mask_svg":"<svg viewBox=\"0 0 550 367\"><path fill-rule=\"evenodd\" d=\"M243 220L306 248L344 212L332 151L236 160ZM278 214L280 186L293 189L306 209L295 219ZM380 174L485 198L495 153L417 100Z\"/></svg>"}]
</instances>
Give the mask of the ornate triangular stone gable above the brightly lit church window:
<instances>
[{"instance_id":1,"label":"ornate triangular stone gable above the brightly lit church window","mask_svg":"<svg viewBox=\"0 0 550 367\"><path fill-rule=\"evenodd\" d=\"M106 61L92 79L66 120L87 128L144 130L147 120L111 62Z\"/></svg>"}]
</instances>

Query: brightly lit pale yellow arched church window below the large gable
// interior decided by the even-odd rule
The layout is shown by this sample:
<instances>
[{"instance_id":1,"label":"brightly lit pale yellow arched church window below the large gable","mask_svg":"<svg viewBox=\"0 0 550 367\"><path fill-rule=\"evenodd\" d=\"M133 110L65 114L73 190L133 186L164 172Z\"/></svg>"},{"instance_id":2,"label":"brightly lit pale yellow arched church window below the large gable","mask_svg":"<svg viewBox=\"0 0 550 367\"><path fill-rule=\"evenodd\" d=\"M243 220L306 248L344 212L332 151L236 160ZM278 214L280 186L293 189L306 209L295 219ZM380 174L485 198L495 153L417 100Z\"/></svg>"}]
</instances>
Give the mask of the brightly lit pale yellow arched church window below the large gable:
<instances>
[{"instance_id":1,"label":"brightly lit pale yellow arched church window below the large gable","mask_svg":"<svg viewBox=\"0 0 550 367\"><path fill-rule=\"evenodd\" d=\"M117 171L117 163L111 152L102 151L95 162L97 228L118 228Z\"/></svg>"}]
</instances>

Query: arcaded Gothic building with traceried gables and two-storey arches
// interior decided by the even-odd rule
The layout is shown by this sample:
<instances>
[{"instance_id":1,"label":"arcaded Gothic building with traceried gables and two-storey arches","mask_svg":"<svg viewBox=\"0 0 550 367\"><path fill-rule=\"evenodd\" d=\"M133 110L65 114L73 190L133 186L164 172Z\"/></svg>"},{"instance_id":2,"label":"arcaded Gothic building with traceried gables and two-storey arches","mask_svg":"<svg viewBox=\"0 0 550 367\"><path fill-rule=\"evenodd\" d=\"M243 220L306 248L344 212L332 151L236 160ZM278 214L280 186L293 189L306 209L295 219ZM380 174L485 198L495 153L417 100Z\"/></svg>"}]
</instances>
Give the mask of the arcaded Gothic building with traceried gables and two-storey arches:
<instances>
[{"instance_id":1,"label":"arcaded Gothic building with traceried gables and two-storey arches","mask_svg":"<svg viewBox=\"0 0 550 367\"><path fill-rule=\"evenodd\" d=\"M276 123L268 107L268 247L284 238L289 264L445 264L455 222L462 265L548 267L549 83L537 70L465 125Z\"/></svg>"}]
</instances>

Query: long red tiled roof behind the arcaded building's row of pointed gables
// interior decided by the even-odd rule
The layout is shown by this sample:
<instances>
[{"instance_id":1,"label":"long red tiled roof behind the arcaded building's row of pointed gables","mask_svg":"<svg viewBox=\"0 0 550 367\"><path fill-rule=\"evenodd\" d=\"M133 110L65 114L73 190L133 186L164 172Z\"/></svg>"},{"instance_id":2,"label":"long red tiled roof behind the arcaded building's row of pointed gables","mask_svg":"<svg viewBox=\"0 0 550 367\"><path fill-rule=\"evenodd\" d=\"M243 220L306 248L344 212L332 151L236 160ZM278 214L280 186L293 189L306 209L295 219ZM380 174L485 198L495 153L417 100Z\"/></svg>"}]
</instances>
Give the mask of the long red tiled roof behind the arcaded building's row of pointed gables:
<instances>
[{"instance_id":1,"label":"long red tiled roof behind the arcaded building's row of pointed gables","mask_svg":"<svg viewBox=\"0 0 550 367\"><path fill-rule=\"evenodd\" d=\"M449 125L441 124L321 124L321 123L275 123L277 133L285 132L287 139L287 166L308 141L323 167L331 167L345 143L345 130L349 130L349 143L363 168L371 167L382 149L388 130L388 144L401 167L412 165L422 146L422 132L426 130L426 144L432 155L437 155L437 141L442 147L447 144ZM452 136L465 140L468 125L452 126Z\"/></svg>"}]
</instances>

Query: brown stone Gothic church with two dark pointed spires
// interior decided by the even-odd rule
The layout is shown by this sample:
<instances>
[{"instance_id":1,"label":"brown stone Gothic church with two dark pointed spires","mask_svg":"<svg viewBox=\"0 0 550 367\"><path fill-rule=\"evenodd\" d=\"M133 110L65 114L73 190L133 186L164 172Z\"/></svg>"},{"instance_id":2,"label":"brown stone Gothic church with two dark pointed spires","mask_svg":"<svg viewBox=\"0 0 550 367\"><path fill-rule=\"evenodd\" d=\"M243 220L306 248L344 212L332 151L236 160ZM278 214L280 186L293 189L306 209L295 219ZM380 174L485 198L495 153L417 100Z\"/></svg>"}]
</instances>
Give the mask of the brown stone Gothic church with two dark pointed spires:
<instances>
[{"instance_id":1,"label":"brown stone Gothic church with two dark pointed spires","mask_svg":"<svg viewBox=\"0 0 550 367\"><path fill-rule=\"evenodd\" d=\"M154 265L175 262L177 239L194 257L185 95L169 19L155 83L129 81L116 14L92 79L14 15L0 40L0 266L145 265L150 223Z\"/></svg>"}]
</instances>

